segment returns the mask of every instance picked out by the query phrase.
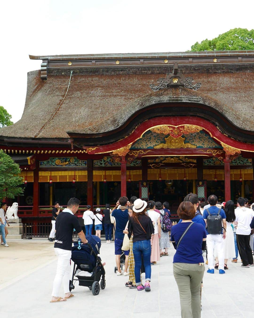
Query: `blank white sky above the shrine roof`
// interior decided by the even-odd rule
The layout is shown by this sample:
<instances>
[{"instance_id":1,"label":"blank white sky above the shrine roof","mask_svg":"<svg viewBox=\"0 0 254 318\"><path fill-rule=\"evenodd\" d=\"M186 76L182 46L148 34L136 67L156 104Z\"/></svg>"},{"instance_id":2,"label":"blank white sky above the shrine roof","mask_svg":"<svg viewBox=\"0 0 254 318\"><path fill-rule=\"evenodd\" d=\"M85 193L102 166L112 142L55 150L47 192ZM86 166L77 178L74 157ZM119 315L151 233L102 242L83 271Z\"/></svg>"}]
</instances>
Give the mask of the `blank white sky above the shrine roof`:
<instances>
[{"instance_id":1,"label":"blank white sky above the shrine roof","mask_svg":"<svg viewBox=\"0 0 254 318\"><path fill-rule=\"evenodd\" d=\"M246 13L249 12L249 13ZM254 28L254 1L2 1L0 105L18 121L31 55L181 52L233 28ZM29 123L28 123L29 127Z\"/></svg>"}]
</instances>

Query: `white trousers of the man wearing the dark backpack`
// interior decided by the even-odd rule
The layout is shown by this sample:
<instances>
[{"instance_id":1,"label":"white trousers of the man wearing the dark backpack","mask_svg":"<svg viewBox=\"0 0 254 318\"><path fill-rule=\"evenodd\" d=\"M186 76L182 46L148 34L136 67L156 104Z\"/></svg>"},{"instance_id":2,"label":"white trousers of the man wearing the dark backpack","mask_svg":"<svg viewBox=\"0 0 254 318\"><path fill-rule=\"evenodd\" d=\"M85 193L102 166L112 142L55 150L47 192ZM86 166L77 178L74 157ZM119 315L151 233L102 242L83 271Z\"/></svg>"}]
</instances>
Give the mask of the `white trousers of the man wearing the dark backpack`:
<instances>
[{"instance_id":1,"label":"white trousers of the man wearing the dark backpack","mask_svg":"<svg viewBox=\"0 0 254 318\"><path fill-rule=\"evenodd\" d=\"M219 269L224 270L224 242L222 234L208 234L206 238L209 269L214 269L214 247L218 253Z\"/></svg>"}]
</instances>

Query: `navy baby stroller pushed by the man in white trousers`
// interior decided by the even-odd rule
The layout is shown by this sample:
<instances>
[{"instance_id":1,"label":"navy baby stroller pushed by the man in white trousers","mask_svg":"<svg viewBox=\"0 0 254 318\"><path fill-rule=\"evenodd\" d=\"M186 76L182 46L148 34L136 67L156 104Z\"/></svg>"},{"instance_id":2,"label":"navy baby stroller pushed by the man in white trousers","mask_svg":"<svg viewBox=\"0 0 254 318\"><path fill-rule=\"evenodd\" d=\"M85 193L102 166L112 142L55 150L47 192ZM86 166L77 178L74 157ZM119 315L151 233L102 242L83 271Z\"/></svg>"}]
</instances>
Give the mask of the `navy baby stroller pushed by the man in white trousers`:
<instances>
[{"instance_id":1,"label":"navy baby stroller pushed by the man in white trousers","mask_svg":"<svg viewBox=\"0 0 254 318\"><path fill-rule=\"evenodd\" d=\"M71 291L75 288L73 281L76 280L79 286L88 287L96 296L100 292L100 287L104 289L106 286L105 270L101 258L97 255L100 252L101 240L95 235L87 235L86 239L87 244L83 244L81 239L78 239L72 247L71 260L74 262L74 266L69 289ZM87 272L87 276L81 275L84 271ZM74 275L77 279L74 278Z\"/></svg>"}]
</instances>

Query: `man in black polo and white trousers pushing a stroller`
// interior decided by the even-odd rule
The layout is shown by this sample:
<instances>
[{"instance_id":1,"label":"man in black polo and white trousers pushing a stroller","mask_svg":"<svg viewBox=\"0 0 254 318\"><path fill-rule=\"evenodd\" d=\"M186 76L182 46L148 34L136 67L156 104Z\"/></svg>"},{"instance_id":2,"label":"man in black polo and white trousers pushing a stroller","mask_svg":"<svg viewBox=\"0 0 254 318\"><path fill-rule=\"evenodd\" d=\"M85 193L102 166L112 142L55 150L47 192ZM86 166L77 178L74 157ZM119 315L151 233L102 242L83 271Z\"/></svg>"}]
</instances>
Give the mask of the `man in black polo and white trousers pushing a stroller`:
<instances>
[{"instance_id":1,"label":"man in black polo and white trousers pushing a stroller","mask_svg":"<svg viewBox=\"0 0 254 318\"><path fill-rule=\"evenodd\" d=\"M87 243L84 232L79 225L78 219L74 214L78 210L80 201L76 198L70 198L67 208L64 209L57 217L56 221L56 240L55 252L58 256L57 273L53 283L52 299L50 302L62 302L73 297L69 292L70 276L70 258L72 247L72 234L75 229L83 243ZM64 285L65 297L59 297L61 284Z\"/></svg>"}]
</instances>

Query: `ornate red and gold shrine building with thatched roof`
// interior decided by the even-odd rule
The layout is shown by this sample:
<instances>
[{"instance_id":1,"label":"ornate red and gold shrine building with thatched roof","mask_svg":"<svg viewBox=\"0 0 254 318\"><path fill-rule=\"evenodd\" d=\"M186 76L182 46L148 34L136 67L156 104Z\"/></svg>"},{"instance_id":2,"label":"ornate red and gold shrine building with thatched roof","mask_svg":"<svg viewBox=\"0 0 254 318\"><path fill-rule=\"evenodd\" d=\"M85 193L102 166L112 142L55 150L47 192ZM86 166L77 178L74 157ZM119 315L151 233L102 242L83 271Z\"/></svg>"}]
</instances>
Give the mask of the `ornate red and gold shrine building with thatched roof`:
<instances>
[{"instance_id":1,"label":"ornate red and gold shrine building with thatched roof","mask_svg":"<svg viewBox=\"0 0 254 318\"><path fill-rule=\"evenodd\" d=\"M70 197L135 195L176 213L192 192L254 200L254 51L30 56L22 118L0 129L20 164L23 222Z\"/></svg>"}]
</instances>

